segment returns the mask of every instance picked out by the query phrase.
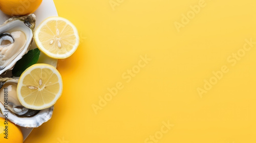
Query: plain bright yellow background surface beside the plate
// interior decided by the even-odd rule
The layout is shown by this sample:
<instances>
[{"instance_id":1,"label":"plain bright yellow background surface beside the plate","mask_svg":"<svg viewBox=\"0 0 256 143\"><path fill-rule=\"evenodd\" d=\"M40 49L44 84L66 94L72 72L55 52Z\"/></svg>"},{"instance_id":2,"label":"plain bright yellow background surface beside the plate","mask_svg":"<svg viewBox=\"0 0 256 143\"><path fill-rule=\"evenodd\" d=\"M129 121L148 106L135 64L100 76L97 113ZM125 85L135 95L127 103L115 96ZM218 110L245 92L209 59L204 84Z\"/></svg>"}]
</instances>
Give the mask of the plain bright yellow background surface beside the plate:
<instances>
[{"instance_id":1,"label":"plain bright yellow background surface beside the plate","mask_svg":"<svg viewBox=\"0 0 256 143\"><path fill-rule=\"evenodd\" d=\"M52 119L25 143L143 143L167 121L175 126L159 142L256 142L256 45L227 62L256 41L256 1L205 1L180 32L174 22L199 0L124 0L115 10L109 0L54 2L81 43L59 60L64 90ZM122 74L144 55L152 60L126 83ZM223 65L228 73L200 98L197 88ZM92 104L117 82L124 88L96 115Z\"/></svg>"}]
</instances>

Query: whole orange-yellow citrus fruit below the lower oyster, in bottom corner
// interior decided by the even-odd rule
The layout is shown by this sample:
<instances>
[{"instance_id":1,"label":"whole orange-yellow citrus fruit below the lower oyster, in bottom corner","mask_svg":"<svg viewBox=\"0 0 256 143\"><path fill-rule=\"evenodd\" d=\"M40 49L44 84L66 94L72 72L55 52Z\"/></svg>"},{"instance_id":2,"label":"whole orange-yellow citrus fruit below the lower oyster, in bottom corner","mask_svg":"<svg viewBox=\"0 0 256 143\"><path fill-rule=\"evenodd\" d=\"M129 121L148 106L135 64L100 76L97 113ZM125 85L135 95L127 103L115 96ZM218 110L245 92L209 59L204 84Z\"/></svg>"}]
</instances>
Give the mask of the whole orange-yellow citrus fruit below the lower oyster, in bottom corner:
<instances>
[{"instance_id":1,"label":"whole orange-yellow citrus fruit below the lower oyster, in bottom corner","mask_svg":"<svg viewBox=\"0 0 256 143\"><path fill-rule=\"evenodd\" d=\"M7 128L6 128L7 127ZM9 120L0 117L0 142L5 143L22 143L22 131Z\"/></svg>"}]
</instances>

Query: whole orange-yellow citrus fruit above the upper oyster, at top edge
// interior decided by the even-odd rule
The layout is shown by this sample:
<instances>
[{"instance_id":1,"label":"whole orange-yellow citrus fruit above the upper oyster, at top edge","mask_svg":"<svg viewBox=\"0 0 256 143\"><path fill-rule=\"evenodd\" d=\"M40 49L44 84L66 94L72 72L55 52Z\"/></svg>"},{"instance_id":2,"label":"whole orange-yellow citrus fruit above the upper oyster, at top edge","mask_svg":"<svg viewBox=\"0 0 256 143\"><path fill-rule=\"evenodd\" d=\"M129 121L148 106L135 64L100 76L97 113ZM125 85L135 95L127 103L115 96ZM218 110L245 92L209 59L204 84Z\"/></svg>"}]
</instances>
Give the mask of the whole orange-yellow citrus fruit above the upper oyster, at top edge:
<instances>
[{"instance_id":1,"label":"whole orange-yellow citrus fruit above the upper oyster, at top edge","mask_svg":"<svg viewBox=\"0 0 256 143\"><path fill-rule=\"evenodd\" d=\"M35 12L41 3L42 0L0 0L0 9L10 16L23 16Z\"/></svg>"}]
</instances>

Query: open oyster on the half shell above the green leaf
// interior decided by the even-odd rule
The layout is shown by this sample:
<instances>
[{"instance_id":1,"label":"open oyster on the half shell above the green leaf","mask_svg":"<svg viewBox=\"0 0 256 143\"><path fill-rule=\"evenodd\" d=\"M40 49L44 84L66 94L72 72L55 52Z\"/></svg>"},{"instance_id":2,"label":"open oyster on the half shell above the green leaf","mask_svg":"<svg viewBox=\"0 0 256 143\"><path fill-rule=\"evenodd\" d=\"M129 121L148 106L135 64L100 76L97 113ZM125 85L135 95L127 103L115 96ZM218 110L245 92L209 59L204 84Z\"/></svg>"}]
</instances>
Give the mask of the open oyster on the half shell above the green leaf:
<instances>
[{"instance_id":1,"label":"open oyster on the half shell above the green leaf","mask_svg":"<svg viewBox=\"0 0 256 143\"><path fill-rule=\"evenodd\" d=\"M11 70L28 52L34 28L34 14L12 17L0 26L0 74Z\"/></svg>"}]
</instances>

